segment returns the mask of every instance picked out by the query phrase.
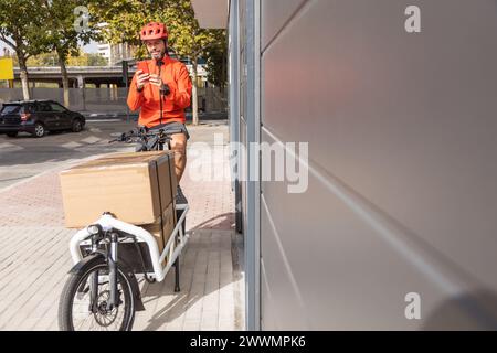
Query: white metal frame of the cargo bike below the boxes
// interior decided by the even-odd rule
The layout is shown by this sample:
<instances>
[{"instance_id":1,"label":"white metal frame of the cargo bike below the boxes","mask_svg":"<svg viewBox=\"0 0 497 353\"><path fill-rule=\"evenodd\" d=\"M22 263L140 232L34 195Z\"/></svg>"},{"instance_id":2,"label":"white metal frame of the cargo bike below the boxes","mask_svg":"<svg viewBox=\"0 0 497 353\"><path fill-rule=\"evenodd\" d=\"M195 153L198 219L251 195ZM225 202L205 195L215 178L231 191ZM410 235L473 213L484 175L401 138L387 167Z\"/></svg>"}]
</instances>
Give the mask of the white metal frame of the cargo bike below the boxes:
<instances>
[{"instance_id":1,"label":"white metal frame of the cargo bike below the boxes","mask_svg":"<svg viewBox=\"0 0 497 353\"><path fill-rule=\"evenodd\" d=\"M162 254L159 254L159 247L154 236L149 232L145 231L139 226L116 220L109 214L102 215L94 224L99 224L104 231L117 229L125 232L127 234L133 234L136 236L137 242L147 243L148 250L150 254L150 261L154 267L154 272L149 272L147 275L156 279L157 281L161 282L166 278L166 275L171 268L171 266L175 264L182 248L188 243L189 235L183 234L182 224L184 222L184 217L187 216L187 212L189 208L190 207L188 205L183 204L177 205L176 210L183 210L183 212L181 213L181 217L178 220L176 227L172 231L172 234L169 237L169 240L162 250ZM166 267L162 267L161 264L166 259L166 256L168 256L169 250L175 239L177 239L178 235L179 235L178 237L179 243L176 245L172 256L168 258ZM74 234L73 237L71 238L70 250L74 264L77 264L83 259L83 254L81 253L80 245L87 245L89 240L86 238L88 236L91 236L91 233L87 231L87 228L83 228L78 231L76 234Z\"/></svg>"}]
</instances>

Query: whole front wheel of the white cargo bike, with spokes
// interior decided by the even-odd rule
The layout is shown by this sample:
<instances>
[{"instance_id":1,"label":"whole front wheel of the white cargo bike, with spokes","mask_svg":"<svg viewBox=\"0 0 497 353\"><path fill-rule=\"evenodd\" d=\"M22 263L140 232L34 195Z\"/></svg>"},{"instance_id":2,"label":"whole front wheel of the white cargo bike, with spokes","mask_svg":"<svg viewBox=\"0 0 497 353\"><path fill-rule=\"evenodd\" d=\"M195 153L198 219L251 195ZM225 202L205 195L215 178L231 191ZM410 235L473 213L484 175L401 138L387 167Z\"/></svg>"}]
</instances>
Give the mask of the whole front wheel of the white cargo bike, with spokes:
<instances>
[{"instance_id":1,"label":"whole front wheel of the white cargo bike, with spokes","mask_svg":"<svg viewBox=\"0 0 497 353\"><path fill-rule=\"evenodd\" d=\"M103 258L71 272L59 303L61 331L130 331L135 320L131 284L120 269L117 276L119 304L108 310L110 298L108 265ZM96 290L92 290L93 286ZM93 297L95 293L95 300Z\"/></svg>"}]
</instances>

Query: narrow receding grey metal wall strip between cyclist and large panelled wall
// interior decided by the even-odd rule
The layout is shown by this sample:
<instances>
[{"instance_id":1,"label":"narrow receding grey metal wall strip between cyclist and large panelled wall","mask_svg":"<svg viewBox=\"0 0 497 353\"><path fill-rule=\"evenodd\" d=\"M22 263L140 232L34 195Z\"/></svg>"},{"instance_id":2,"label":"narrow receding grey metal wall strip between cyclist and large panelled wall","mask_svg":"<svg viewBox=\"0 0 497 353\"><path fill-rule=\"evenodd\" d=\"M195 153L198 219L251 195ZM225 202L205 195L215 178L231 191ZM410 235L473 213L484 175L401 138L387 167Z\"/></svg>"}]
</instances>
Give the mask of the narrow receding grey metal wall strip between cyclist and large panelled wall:
<instances>
[{"instance_id":1,"label":"narrow receding grey metal wall strip between cyclist and large panelled wall","mask_svg":"<svg viewBox=\"0 0 497 353\"><path fill-rule=\"evenodd\" d=\"M234 188L236 222L244 234L246 329L260 327L260 183L253 178L258 152L250 148L258 142L260 129L260 12L258 1L230 1L230 115L231 140L241 148L233 151L236 164ZM232 42L235 42L233 45ZM237 226L239 228L239 226Z\"/></svg>"}]
</instances>

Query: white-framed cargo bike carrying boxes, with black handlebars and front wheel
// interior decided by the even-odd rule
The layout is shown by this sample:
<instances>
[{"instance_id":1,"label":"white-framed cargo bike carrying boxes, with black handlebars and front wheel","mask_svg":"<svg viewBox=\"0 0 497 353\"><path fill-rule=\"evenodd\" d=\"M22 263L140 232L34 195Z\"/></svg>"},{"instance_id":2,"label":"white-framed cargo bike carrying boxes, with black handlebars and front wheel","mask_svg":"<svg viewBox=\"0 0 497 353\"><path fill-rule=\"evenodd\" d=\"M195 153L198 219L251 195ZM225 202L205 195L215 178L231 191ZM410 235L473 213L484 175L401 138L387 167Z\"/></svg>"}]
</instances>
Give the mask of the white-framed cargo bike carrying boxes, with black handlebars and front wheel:
<instances>
[{"instance_id":1,"label":"white-framed cargo bike carrying boxes, with black handlebars and front wheel","mask_svg":"<svg viewBox=\"0 0 497 353\"><path fill-rule=\"evenodd\" d=\"M137 143L137 152L170 149L171 135L182 131L136 128L109 142ZM179 255L188 242L189 210L181 189L176 199L177 222L160 253L154 236L140 226L117 220L112 210L78 231L70 242L75 266L59 303L63 331L130 331L136 311L144 311L137 275L161 282L175 267L179 287Z\"/></svg>"}]
</instances>

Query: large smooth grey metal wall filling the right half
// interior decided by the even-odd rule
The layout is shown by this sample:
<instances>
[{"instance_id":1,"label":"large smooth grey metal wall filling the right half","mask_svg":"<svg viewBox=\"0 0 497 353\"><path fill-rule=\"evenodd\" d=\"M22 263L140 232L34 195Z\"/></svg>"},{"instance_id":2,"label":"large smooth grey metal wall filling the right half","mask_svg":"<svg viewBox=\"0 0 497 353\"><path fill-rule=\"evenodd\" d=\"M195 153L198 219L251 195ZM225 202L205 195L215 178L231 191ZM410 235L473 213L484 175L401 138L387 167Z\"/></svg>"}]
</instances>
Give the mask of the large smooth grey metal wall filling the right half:
<instances>
[{"instance_id":1,"label":"large smooth grey metal wall filling the right half","mask_svg":"<svg viewBox=\"0 0 497 353\"><path fill-rule=\"evenodd\" d=\"M261 7L261 138L310 154L261 186L262 329L497 329L497 1Z\"/></svg>"}]
</instances>

